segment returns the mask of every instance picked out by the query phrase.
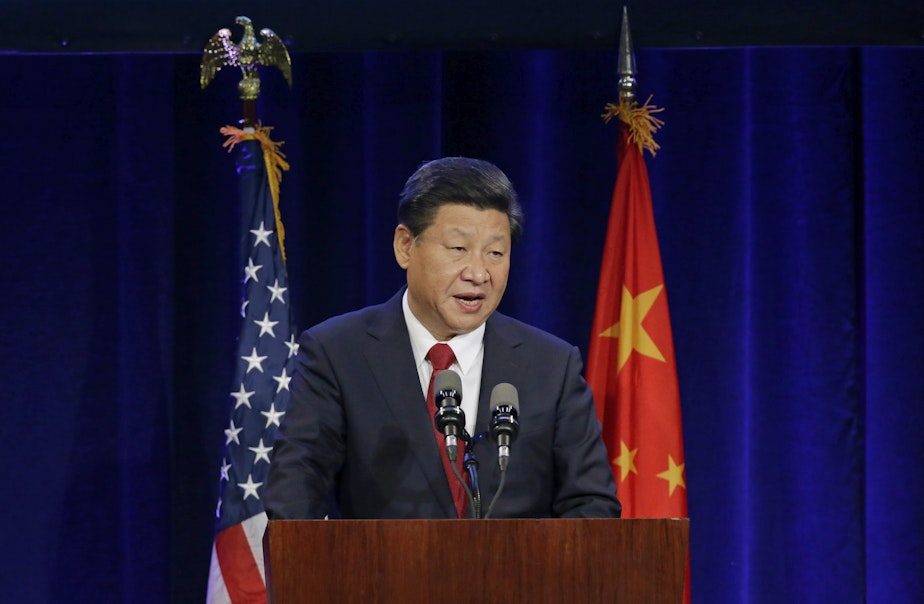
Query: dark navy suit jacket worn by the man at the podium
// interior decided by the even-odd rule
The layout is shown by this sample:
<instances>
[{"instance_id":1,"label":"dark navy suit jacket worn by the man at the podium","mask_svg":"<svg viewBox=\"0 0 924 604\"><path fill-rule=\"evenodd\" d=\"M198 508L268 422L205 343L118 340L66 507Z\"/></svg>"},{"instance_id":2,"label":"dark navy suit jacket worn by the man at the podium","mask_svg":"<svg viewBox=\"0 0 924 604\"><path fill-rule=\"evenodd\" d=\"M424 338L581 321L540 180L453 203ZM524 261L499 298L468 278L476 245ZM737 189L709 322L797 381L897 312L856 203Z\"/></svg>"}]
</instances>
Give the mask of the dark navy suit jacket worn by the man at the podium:
<instances>
[{"instance_id":1,"label":"dark navy suit jacket worn by the man at the podium","mask_svg":"<svg viewBox=\"0 0 924 604\"><path fill-rule=\"evenodd\" d=\"M301 335L265 490L271 519L456 516L402 294ZM520 403L519 437L491 517L618 516L578 350L497 312L484 338L476 434L488 430L496 384L513 384ZM487 511L500 480L497 447L489 438L474 452Z\"/></svg>"}]
</instances>

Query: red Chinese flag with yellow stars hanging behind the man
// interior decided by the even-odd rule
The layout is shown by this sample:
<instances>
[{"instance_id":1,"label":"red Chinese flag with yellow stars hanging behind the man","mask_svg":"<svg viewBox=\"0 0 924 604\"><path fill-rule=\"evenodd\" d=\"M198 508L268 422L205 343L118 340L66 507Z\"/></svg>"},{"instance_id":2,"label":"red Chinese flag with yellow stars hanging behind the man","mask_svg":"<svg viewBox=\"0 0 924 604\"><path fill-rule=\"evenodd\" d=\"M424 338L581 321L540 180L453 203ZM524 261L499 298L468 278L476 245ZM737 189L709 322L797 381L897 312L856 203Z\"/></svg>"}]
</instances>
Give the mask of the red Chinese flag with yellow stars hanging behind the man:
<instances>
[{"instance_id":1,"label":"red Chinese flag with yellow stars hanging behind the man","mask_svg":"<svg viewBox=\"0 0 924 604\"><path fill-rule=\"evenodd\" d=\"M625 124L618 150L587 381L623 517L684 518L683 433L667 292L648 170Z\"/></svg>"}]
</instances>

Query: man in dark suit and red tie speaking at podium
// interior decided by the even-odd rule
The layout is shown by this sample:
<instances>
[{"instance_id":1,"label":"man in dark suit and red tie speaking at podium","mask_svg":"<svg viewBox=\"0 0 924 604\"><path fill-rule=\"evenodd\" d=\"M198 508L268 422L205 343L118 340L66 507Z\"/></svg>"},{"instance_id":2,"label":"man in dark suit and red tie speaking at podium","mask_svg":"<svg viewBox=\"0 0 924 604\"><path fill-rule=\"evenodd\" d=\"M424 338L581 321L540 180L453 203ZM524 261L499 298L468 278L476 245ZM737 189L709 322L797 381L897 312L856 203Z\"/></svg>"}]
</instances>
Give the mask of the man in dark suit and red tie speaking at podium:
<instances>
[{"instance_id":1,"label":"man in dark suit and red tie speaking at podium","mask_svg":"<svg viewBox=\"0 0 924 604\"><path fill-rule=\"evenodd\" d=\"M471 515L444 468L426 397L438 348L461 378L469 450L497 492L492 388L519 393L517 439L492 517L618 517L613 473L578 350L495 312L522 210L488 162L444 158L408 180L394 253L407 287L299 339L297 372L265 491L270 519ZM447 344L449 349L440 347ZM453 493L453 490L456 493Z\"/></svg>"}]
</instances>

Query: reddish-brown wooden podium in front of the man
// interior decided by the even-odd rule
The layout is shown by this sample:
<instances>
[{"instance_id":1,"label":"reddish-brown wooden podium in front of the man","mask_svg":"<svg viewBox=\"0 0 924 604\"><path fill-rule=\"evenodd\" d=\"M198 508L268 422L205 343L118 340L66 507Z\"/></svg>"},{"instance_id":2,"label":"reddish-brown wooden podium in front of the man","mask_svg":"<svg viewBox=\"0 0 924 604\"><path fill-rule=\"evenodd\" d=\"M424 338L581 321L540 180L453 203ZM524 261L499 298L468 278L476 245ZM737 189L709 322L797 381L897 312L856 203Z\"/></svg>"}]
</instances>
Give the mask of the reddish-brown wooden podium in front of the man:
<instances>
[{"instance_id":1,"label":"reddish-brown wooden podium in front of the man","mask_svg":"<svg viewBox=\"0 0 924 604\"><path fill-rule=\"evenodd\" d=\"M274 520L271 604L680 604L689 520Z\"/></svg>"}]
</instances>

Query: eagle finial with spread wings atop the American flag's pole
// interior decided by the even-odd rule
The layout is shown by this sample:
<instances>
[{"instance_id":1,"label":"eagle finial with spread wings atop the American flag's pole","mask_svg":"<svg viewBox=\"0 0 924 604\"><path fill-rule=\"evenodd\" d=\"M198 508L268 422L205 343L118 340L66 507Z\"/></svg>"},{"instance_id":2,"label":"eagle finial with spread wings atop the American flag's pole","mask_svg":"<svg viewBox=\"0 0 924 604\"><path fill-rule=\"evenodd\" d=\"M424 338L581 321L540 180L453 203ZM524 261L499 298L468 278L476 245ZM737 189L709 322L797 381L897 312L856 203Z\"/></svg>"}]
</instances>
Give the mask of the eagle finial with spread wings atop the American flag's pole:
<instances>
[{"instance_id":1,"label":"eagle finial with spread wings atop the American flag's pole","mask_svg":"<svg viewBox=\"0 0 924 604\"><path fill-rule=\"evenodd\" d=\"M269 29L260 30L263 43L257 41L253 23L247 17L238 17L235 23L244 27L244 35L239 44L231 41L231 31L219 29L202 52L199 84L204 89L222 67L230 65L239 67L243 78L237 84L238 94L244 102L244 125L254 125L253 105L260 96L260 77L257 65L278 67L289 86L292 86L292 60L286 45L276 33Z\"/></svg>"}]
</instances>

